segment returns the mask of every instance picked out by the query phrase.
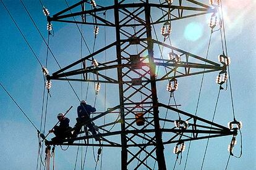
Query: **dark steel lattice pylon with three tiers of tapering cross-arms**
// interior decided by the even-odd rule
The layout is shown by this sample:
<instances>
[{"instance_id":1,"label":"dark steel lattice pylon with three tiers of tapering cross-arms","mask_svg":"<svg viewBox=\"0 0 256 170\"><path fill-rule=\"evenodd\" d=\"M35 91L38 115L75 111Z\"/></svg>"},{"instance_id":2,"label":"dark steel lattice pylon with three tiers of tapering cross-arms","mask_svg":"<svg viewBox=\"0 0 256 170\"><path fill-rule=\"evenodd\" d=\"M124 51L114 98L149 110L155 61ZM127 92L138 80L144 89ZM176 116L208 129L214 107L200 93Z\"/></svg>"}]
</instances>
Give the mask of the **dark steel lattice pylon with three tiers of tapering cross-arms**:
<instances>
[{"instance_id":1,"label":"dark steel lattice pylon with three tiers of tapering cross-arms","mask_svg":"<svg viewBox=\"0 0 256 170\"><path fill-rule=\"evenodd\" d=\"M96 83L117 84L119 87L119 103L116 107L109 108L104 113L92 118L96 120L109 113L118 111L121 115L117 123L120 124L119 130L103 131L102 137L105 144L103 147L121 148L121 168L122 169L153 169L147 162L157 163L158 169L166 169L164 159L164 145L182 144L190 140L207 139L210 137L220 137L236 134L236 131L230 130L220 124L212 123L206 119L199 118L185 111L171 107L167 104L158 102L158 81L176 81L176 78L198 75L212 71L226 71L226 65L212 62L203 57L199 57L189 52L182 51L176 47L160 42L152 36L153 25L163 25L164 23L179 20L182 18L195 17L208 13L215 13L216 10L197 1L179 0L179 5L174 6L163 1L140 0L130 2L126 0L114 0L111 6L97 6L93 9L85 10L84 4L87 1L80 1L67 9L58 12L52 17L48 17L48 22L69 22L82 23L84 25L109 26L115 30L115 38L111 44L93 52L77 62L71 63L67 67L56 71L48 80L70 80L87 81ZM183 5L186 4L186 5ZM82 7L79 12L66 14L71 9ZM81 9L81 8L80 8ZM113 18L102 18L97 14L109 12ZM155 12L164 12L164 15L155 17ZM166 19L168 14L171 18ZM97 21L90 20L74 21L71 17L81 15L92 15ZM136 28L136 29L135 29ZM165 47L173 54L179 54L181 60L166 60L160 56L154 55L156 48ZM85 63L92 62L92 57L101 54L110 48L115 48L116 57L106 62L99 63L94 68L86 66ZM80 64L83 68L77 68ZM166 74L159 77L156 74L156 68L161 67L166 70ZM105 70L114 70L116 75L106 76ZM87 78L87 73L98 76L97 80ZM76 75L84 75L79 78ZM66 78L65 78L66 77ZM138 111L139 108L139 111ZM164 118L160 108L166 108L182 115L184 121L188 121L188 127L174 126L176 119ZM135 116L137 113L143 113L145 124L137 126ZM160 127L163 122L168 123L168 127ZM182 124L182 123L181 123ZM101 129L102 130L102 129ZM210 134L210 135L208 135ZM113 140L111 136L120 136L121 140ZM191 135L191 136L190 136ZM74 140L90 139L92 136L77 137ZM64 141L64 145L69 145L69 139ZM100 146L100 144L78 144ZM139 161L139 163L137 163Z\"/></svg>"}]
</instances>

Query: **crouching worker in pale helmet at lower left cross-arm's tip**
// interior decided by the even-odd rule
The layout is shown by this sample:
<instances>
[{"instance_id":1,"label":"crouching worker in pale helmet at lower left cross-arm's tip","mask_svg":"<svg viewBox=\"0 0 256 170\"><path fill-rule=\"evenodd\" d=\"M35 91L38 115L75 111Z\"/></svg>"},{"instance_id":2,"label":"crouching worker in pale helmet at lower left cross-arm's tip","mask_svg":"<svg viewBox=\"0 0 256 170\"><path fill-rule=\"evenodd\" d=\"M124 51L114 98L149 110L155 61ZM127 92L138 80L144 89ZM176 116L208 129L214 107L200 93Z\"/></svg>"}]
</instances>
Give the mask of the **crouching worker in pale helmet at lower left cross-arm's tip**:
<instances>
[{"instance_id":1,"label":"crouching worker in pale helmet at lower left cross-arm's tip","mask_svg":"<svg viewBox=\"0 0 256 170\"><path fill-rule=\"evenodd\" d=\"M62 144L63 139L71 137L71 132L68 131L72 129L72 127L69 126L69 118L66 118L63 113L59 113L57 118L59 120L59 126L56 125L49 131L49 133L53 132L56 137L53 137L48 144Z\"/></svg>"}]
</instances>

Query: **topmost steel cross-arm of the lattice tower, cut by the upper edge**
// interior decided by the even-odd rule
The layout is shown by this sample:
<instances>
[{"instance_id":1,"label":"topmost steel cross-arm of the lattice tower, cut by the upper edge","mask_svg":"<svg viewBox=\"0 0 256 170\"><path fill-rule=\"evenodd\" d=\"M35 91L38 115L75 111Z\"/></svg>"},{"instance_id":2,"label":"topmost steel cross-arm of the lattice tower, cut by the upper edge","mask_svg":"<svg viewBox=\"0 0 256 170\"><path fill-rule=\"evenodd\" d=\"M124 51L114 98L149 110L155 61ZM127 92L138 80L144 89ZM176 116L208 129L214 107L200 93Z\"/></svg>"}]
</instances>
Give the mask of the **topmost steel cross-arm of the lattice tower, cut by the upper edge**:
<instances>
[{"instance_id":1,"label":"topmost steel cross-arm of the lattice tower, cut by the upper edge","mask_svg":"<svg viewBox=\"0 0 256 170\"><path fill-rule=\"evenodd\" d=\"M96 16L95 14L97 14L97 12L106 12L108 10L113 11L114 9L133 9L133 8L145 8L147 7L151 7L151 8L155 8L158 10L162 10L162 11L166 11L168 9L171 9L172 12L176 12L177 10L177 14L178 15L173 15L173 17L171 18L171 20L179 20L182 18L189 18L189 17L195 17L198 15L205 15L205 14L209 14L209 13L215 13L217 10L211 8L210 6L207 6L205 4L202 4L201 2L197 2L197 1L193 1L190 0L189 2L192 2L192 6L182 6L182 1L180 2L179 6L173 6L173 5L168 5L168 4L155 4L155 3L124 3L126 1L122 1L116 5L111 5L111 6L100 6L100 7L96 7L95 9L90 9L90 10L82 10L80 12L73 12L72 14L65 14L66 12L68 12L69 10L75 9L76 7L80 6L81 4L85 3L87 1L80 1L70 7L67 7L64 10L61 10L61 12L58 12L57 14L54 14L53 17L48 17L48 22L67 22L67 23L82 23L82 24L87 24L87 25L95 25L95 23L92 22L80 22L80 21L74 21L74 20L70 20L70 17L76 17L76 16L80 16L80 15L92 15L93 17L96 17L98 21L97 25L102 25L102 26L112 26L115 27L116 23L114 22L114 20L111 19L103 19L100 18L98 16ZM187 15L184 14L185 11L194 11L197 12L195 14L191 14L191 12L189 12ZM120 11L119 11L120 12ZM132 12L132 11L130 11ZM130 12L128 12L125 15L130 15ZM133 14L133 13L132 13ZM65 20L63 20L65 19ZM169 20L165 20L164 17L161 17L160 19L153 21L150 24L157 24L157 23L164 23L164 22L168 22ZM143 23L139 23L136 24L136 26L139 25L144 25ZM120 26L135 26L135 24L124 24L124 25L120 25Z\"/></svg>"}]
</instances>

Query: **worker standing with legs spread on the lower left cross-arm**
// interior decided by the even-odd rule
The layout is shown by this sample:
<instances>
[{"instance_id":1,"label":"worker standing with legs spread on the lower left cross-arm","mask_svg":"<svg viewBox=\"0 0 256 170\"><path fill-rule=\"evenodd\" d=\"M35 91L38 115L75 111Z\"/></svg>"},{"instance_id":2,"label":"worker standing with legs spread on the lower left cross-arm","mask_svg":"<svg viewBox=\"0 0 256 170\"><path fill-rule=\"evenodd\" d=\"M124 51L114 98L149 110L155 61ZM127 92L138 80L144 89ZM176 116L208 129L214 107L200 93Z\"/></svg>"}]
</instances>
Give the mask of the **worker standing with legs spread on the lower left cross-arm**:
<instances>
[{"instance_id":1,"label":"worker standing with legs spread on the lower left cross-arm","mask_svg":"<svg viewBox=\"0 0 256 170\"><path fill-rule=\"evenodd\" d=\"M93 136L97 134L95 130L95 124L90 119L90 115L92 112L95 112L96 108L92 107L91 105L88 105L85 100L82 100L80 102L79 107L77 107L77 123L75 124L75 131L74 136L77 136L79 134L81 128L83 125L86 125L89 128L89 131L92 132ZM86 123L86 124L84 124ZM99 140L98 137L95 137L95 140Z\"/></svg>"}]
</instances>

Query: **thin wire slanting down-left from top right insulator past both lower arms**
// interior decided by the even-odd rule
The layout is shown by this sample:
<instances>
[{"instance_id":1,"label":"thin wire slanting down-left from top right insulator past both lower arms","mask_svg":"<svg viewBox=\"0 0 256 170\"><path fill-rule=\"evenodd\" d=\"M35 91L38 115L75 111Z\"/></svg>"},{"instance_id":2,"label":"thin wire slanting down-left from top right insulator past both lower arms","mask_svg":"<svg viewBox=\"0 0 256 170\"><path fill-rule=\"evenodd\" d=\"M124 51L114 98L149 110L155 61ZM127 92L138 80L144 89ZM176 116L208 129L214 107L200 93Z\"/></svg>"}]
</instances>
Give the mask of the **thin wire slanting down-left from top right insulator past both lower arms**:
<instances>
[{"instance_id":1,"label":"thin wire slanting down-left from top right insulator past both lower arms","mask_svg":"<svg viewBox=\"0 0 256 170\"><path fill-rule=\"evenodd\" d=\"M210 39L209 39L208 47L207 47L207 55L206 55L205 59L208 59L208 54L209 54L209 50L210 50L210 44L211 44L212 34L213 34L213 30L211 29ZM206 63L205 63L205 64L206 64ZM203 71L205 71L205 68L203 68ZM200 83L199 94L198 94L198 97L197 97L197 106L196 106L196 108L195 108L195 116L197 115L197 110L198 110L198 105L199 105L199 101L200 101L200 97L201 97L201 92L202 92L202 86L203 86L203 79L204 79L204 76L205 76L205 73L203 73L202 79L201 79L201 83ZM192 134L191 134L191 136L192 136ZM186 156L186 161L185 161L184 170L186 169L186 166L187 166L187 160L188 160L188 157L189 157L190 145L191 145L191 140L189 141L189 147L188 147L188 149L187 149L187 156Z\"/></svg>"}]
</instances>

